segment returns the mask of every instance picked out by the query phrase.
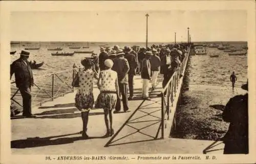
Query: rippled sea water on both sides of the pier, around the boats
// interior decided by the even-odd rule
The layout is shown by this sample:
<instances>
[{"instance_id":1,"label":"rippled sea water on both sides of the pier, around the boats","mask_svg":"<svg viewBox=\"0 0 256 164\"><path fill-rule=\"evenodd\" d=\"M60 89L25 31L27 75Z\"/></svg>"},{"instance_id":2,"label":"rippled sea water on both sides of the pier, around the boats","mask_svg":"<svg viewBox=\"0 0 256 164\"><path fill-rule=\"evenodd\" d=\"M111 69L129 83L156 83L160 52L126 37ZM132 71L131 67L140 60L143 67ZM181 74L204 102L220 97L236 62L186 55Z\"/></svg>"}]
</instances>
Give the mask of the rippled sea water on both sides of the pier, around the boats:
<instances>
[{"instance_id":1,"label":"rippled sea water on both sides of the pier, around the boats","mask_svg":"<svg viewBox=\"0 0 256 164\"><path fill-rule=\"evenodd\" d=\"M203 42L204 43L204 42ZM216 43L216 42L215 42ZM221 42L220 42L221 43ZM242 48L242 46L247 46L246 42L228 42L230 45L236 48ZM160 43L149 43L160 44ZM208 42L208 44L210 44ZM82 46L90 46L89 49L82 49ZM20 42L19 44L11 44L11 51L17 51L15 55L10 55L11 62L19 58L20 51L25 48L40 47L39 50L28 50L30 52L29 60L35 60L37 63L44 61L45 64L40 69L33 69L33 74L35 77L35 82L39 88L45 88L45 90L51 94L51 82L52 78L49 76L39 77L45 74L51 74L59 71L65 71L67 69L72 69L74 63L80 65L80 61L83 57L88 57L90 54L74 54L74 56L51 56L51 53L56 51L48 51L49 48L61 47L63 50L61 52L74 52L74 51L94 51L94 53L99 54L99 46L111 46L119 45L120 48L128 45L139 45L145 46L145 43L125 43L125 42ZM80 46L81 49L69 49L70 46ZM211 54L219 54L217 58L210 58ZM207 48L206 56L191 56L191 64L189 64L190 69L190 85L193 84L210 84L218 86L230 87L229 76L232 71L236 72L238 77L237 86L241 86L242 83L247 80L247 56L228 56L221 50L215 48ZM59 74L60 79L65 80L68 84L72 81L72 72L66 74ZM14 80L14 76L12 77ZM70 89L68 85L63 86L63 82L55 77L55 88L54 91L56 95L58 93L63 93L67 89ZM12 85L12 93L15 91L15 86ZM38 87L33 88L33 94L36 96L34 101L39 101L39 99L48 97L45 91L39 89Z\"/></svg>"}]
</instances>

